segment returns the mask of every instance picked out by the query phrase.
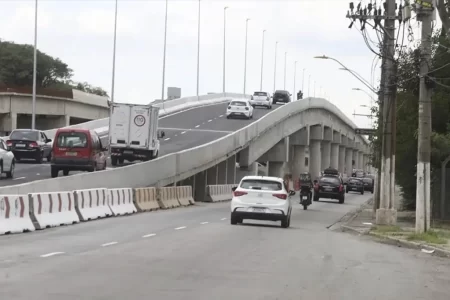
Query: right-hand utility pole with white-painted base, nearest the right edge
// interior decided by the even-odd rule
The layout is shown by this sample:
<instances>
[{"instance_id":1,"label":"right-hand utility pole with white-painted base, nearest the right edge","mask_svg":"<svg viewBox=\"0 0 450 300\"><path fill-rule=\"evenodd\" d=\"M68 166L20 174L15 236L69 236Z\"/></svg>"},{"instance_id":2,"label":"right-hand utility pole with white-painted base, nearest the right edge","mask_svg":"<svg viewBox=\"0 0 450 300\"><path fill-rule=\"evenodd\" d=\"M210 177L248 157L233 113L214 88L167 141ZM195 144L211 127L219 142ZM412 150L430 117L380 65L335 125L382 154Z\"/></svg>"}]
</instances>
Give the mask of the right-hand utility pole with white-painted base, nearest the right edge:
<instances>
[{"instance_id":1,"label":"right-hand utility pole with white-painted base, nearest the right edge","mask_svg":"<svg viewBox=\"0 0 450 300\"><path fill-rule=\"evenodd\" d=\"M431 64L431 23L433 22L433 1L421 1L414 8L417 20L422 22L420 46L420 93L419 93L419 135L417 147L417 190L416 190L416 232L430 229L430 156L431 156L431 87L427 76Z\"/></svg>"}]
</instances>

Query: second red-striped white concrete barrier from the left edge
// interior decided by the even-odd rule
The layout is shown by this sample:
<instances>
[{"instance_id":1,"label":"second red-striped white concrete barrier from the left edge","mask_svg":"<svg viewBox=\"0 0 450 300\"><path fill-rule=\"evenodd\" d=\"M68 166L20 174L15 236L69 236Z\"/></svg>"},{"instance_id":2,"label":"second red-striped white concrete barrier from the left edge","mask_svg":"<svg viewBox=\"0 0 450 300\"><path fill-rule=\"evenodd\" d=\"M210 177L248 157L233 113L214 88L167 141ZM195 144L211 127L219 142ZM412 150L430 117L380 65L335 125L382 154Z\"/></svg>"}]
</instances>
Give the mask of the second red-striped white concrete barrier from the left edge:
<instances>
[{"instance_id":1,"label":"second red-striped white concrete barrier from the left edge","mask_svg":"<svg viewBox=\"0 0 450 300\"><path fill-rule=\"evenodd\" d=\"M31 193L28 198L39 227L37 229L80 222L72 192Z\"/></svg>"}]
</instances>

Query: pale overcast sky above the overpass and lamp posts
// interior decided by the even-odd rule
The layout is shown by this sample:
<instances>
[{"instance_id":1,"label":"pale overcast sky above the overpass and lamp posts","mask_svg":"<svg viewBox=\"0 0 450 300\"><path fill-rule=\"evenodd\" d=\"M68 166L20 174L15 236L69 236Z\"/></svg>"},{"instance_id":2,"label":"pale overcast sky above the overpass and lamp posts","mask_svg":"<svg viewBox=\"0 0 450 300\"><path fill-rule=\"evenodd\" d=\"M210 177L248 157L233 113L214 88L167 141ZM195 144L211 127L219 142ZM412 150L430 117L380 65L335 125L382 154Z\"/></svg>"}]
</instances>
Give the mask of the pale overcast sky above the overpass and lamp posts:
<instances>
[{"instance_id":1,"label":"pale overcast sky above the overpass and lamp posts","mask_svg":"<svg viewBox=\"0 0 450 300\"><path fill-rule=\"evenodd\" d=\"M278 41L276 89L284 88L284 53L287 54L286 89L328 96L360 127L368 113L360 105L370 98L352 88L368 90L331 60L340 60L378 86L379 63L372 76L374 54L361 34L349 29L345 18L348 0L202 0L200 41L200 94L222 91L224 7L226 25L226 91L243 92L245 20L248 30L247 93L259 90L262 31L266 29L263 90L273 92L275 42ZM110 92L114 0L39 0L38 48L59 57L74 70L75 81L87 81ZM119 0L115 101L148 103L161 98L164 45L164 0ZM33 43L34 1L0 0L0 38ZM180 87L182 96L196 94L197 0L169 0L166 87ZM373 39L376 36L372 35ZM311 89L308 91L308 79ZM322 88L321 88L322 87ZM321 92L322 91L322 92Z\"/></svg>"}]
</instances>

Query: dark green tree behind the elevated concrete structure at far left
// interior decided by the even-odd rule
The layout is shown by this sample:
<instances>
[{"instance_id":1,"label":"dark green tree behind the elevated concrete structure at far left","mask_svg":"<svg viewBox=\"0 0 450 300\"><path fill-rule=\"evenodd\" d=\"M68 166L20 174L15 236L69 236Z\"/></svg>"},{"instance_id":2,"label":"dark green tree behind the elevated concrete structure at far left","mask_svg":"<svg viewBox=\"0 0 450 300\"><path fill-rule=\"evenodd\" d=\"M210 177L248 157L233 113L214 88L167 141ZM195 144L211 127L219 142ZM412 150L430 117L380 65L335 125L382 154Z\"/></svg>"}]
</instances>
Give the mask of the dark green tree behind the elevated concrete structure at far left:
<instances>
[{"instance_id":1,"label":"dark green tree behind the elevated concrete structure at far left","mask_svg":"<svg viewBox=\"0 0 450 300\"><path fill-rule=\"evenodd\" d=\"M0 40L0 83L7 86L33 85L34 47ZM37 51L36 86L38 88L78 89L107 96L106 91L89 83L74 84L73 71L59 58Z\"/></svg>"}]
</instances>

